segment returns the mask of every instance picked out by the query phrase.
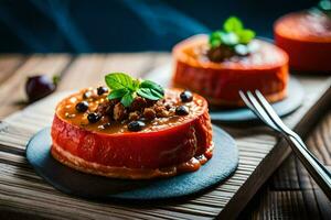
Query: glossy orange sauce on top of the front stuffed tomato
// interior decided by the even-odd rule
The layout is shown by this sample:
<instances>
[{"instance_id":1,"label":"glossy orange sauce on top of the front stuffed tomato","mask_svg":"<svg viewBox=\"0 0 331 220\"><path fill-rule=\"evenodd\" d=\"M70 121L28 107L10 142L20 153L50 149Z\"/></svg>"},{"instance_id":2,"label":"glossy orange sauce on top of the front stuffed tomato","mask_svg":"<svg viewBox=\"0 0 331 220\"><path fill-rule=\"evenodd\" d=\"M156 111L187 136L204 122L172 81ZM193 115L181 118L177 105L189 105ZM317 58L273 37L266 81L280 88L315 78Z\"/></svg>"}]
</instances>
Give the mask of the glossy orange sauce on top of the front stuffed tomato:
<instances>
[{"instance_id":1,"label":"glossy orange sauce on top of the front stuffed tomato","mask_svg":"<svg viewBox=\"0 0 331 220\"><path fill-rule=\"evenodd\" d=\"M87 90L90 90L93 92L93 96L90 98L84 99L83 95ZM188 116L171 116L167 118L156 118L151 121L146 121L146 127L139 131L139 132L152 132L152 131L160 131L167 128L175 127L179 124L182 124L184 121L194 119L197 114L203 113L205 105L204 101L201 99L193 99L191 102L181 102L179 98L180 91L177 90L170 90L166 94L166 103L171 103L173 107L177 106L185 106L189 109ZM94 112L97 110L98 105L107 101L107 95L104 94L102 96L96 95L96 91L92 88L84 89L77 94L74 94L63 101L60 102L60 105L56 108L56 114L67 123L77 125L82 129L88 130L88 131L97 131L102 133L126 133L131 132L128 131L128 121L114 121L109 120L108 117L102 117L102 119L96 123L90 123L87 120L87 116L90 112ZM86 112L78 112L75 109L75 106L81 101L87 101L88 102L88 110ZM164 105L166 105L164 103ZM173 109L174 111L174 109ZM109 123L109 125L104 127L104 124Z\"/></svg>"}]
</instances>

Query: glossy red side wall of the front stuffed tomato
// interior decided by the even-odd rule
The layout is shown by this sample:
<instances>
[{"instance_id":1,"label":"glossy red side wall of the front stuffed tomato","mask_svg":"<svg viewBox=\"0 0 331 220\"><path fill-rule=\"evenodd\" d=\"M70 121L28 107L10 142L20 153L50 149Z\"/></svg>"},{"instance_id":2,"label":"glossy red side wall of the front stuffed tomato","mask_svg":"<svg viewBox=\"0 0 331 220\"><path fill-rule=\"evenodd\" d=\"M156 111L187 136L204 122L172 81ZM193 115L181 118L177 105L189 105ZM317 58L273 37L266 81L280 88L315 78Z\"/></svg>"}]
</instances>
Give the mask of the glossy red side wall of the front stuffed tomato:
<instances>
[{"instance_id":1,"label":"glossy red side wall of the front stuffed tomato","mask_svg":"<svg viewBox=\"0 0 331 220\"><path fill-rule=\"evenodd\" d=\"M169 167L188 162L211 146L212 128L205 100L204 106L202 114L180 125L121 135L87 131L55 114L52 141L65 152L90 163L128 168Z\"/></svg>"}]
</instances>

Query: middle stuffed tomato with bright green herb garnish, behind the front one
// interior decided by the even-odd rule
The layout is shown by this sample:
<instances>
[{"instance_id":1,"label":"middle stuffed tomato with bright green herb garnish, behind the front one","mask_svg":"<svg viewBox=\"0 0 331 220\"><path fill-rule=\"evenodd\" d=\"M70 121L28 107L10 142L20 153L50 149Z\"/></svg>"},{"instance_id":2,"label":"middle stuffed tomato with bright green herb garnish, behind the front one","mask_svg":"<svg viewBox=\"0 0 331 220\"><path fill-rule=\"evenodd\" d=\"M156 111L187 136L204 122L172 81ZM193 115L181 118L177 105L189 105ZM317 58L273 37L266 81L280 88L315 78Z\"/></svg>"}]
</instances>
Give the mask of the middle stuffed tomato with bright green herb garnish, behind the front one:
<instances>
[{"instance_id":1,"label":"middle stuffed tomato with bright green herb garnish, behind the front one","mask_svg":"<svg viewBox=\"0 0 331 220\"><path fill-rule=\"evenodd\" d=\"M287 54L252 34L249 41L242 37L252 31L238 29L243 25L236 18L228 19L224 26L223 31L195 35L174 46L173 86L204 96L212 106L243 106L239 90L258 89L271 102L284 99Z\"/></svg>"}]
</instances>

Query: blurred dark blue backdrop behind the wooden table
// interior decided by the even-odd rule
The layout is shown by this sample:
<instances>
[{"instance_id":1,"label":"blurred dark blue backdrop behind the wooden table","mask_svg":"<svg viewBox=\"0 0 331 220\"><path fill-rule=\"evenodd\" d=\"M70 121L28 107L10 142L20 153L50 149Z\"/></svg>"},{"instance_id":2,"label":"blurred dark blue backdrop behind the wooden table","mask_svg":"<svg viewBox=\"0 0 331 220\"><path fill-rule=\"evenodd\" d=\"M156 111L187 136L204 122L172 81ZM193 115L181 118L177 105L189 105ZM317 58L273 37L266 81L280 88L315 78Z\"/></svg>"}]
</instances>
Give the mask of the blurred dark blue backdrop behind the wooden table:
<instances>
[{"instance_id":1,"label":"blurred dark blue backdrop behind the wooden table","mask_svg":"<svg viewBox=\"0 0 331 220\"><path fill-rule=\"evenodd\" d=\"M0 53L170 51L229 15L273 36L280 15L316 0L1 0Z\"/></svg>"}]
</instances>

